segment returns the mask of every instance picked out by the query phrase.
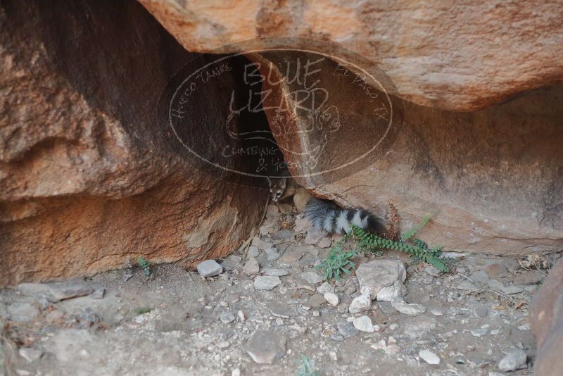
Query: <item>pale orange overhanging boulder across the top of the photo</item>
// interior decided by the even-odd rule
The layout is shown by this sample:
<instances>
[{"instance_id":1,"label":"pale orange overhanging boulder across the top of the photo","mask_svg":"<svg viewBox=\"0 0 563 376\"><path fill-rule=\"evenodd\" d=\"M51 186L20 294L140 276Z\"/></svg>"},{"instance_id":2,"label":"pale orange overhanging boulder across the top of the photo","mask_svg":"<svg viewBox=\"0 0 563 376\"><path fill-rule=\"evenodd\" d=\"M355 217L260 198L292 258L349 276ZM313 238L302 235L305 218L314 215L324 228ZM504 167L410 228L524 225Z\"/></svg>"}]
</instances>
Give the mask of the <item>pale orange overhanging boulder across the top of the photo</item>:
<instances>
[{"instance_id":1,"label":"pale orange overhanging boulder across the top of the photo","mask_svg":"<svg viewBox=\"0 0 563 376\"><path fill-rule=\"evenodd\" d=\"M377 63L409 101L486 108L563 78L560 1L139 0L189 51L300 37Z\"/></svg>"}]
</instances>

